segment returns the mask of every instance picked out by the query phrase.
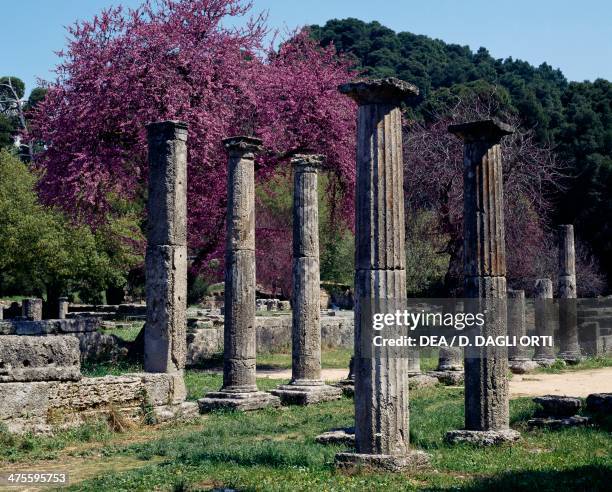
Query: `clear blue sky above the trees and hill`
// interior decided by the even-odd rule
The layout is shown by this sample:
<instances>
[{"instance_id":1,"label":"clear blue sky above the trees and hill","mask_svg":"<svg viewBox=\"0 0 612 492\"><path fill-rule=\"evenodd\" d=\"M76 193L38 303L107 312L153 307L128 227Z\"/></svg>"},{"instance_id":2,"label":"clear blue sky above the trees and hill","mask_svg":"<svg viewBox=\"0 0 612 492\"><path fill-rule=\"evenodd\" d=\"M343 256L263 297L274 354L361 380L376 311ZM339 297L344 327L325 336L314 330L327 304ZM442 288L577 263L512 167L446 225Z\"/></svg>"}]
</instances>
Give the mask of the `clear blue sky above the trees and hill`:
<instances>
[{"instance_id":1,"label":"clear blue sky above the trees and hill","mask_svg":"<svg viewBox=\"0 0 612 492\"><path fill-rule=\"evenodd\" d=\"M27 91L52 80L55 52L66 45L65 26L110 5L140 0L0 0L3 26L0 76L14 75ZM612 80L610 0L253 0L268 25L288 32L333 18L377 20L395 31L484 46L492 56L547 62L569 80Z\"/></svg>"}]
</instances>

